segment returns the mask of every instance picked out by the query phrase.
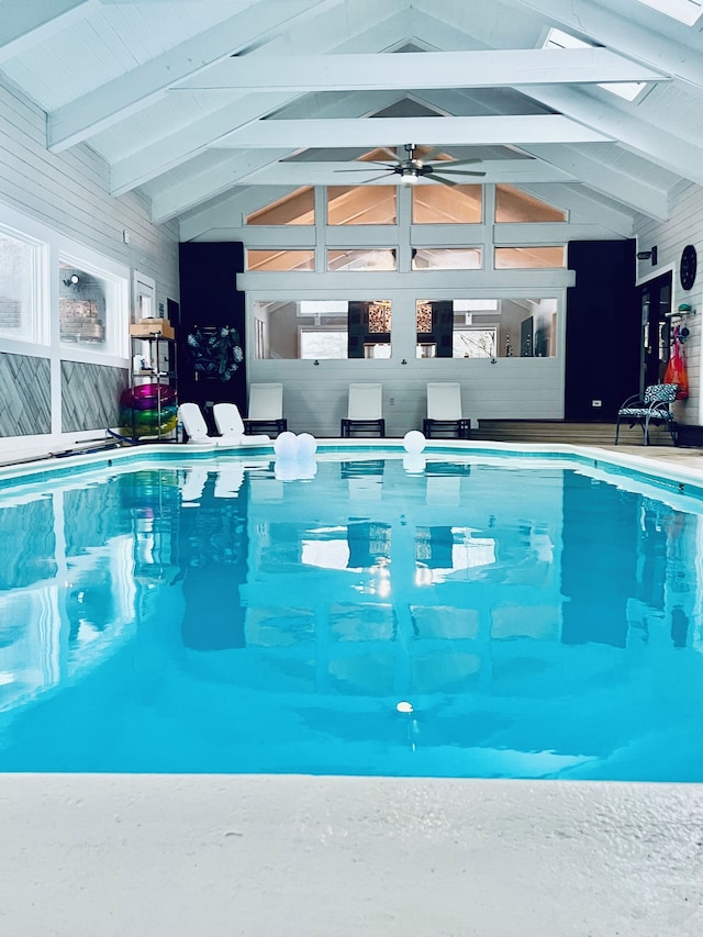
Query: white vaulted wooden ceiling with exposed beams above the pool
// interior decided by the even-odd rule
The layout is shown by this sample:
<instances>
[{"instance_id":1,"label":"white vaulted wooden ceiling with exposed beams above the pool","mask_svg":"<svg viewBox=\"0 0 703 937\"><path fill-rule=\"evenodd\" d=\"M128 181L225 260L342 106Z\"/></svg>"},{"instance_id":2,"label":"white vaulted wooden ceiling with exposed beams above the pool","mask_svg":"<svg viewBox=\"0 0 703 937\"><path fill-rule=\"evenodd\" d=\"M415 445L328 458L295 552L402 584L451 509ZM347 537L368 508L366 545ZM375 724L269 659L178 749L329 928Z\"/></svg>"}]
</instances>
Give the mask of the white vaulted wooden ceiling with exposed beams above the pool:
<instances>
[{"instance_id":1,"label":"white vaulted wooden ceiling with exposed beams above the pool","mask_svg":"<svg viewBox=\"0 0 703 937\"><path fill-rule=\"evenodd\" d=\"M650 0L0 0L0 70L51 150L92 147L189 236L410 142L627 236L703 185L702 27Z\"/></svg>"}]
</instances>

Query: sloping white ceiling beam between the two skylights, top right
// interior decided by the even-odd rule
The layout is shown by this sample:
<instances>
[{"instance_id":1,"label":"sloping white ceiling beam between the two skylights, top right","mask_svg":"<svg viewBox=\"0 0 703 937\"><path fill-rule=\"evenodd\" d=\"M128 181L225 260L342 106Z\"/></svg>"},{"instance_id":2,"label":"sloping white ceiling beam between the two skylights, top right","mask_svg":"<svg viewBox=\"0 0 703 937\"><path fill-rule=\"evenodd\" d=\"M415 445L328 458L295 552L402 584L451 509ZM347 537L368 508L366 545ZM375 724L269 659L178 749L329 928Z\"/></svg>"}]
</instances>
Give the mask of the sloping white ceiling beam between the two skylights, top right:
<instances>
[{"instance_id":1,"label":"sloping white ceiling beam between the two skylights, top right","mask_svg":"<svg viewBox=\"0 0 703 937\"><path fill-rule=\"evenodd\" d=\"M703 58L700 48L684 45L662 32L640 25L634 19L625 19L606 5L592 0L509 0L516 9L527 9L573 33L589 36L610 49L622 52L636 62L646 63L665 75L671 75L698 88L703 88ZM676 24L672 24L676 27ZM700 33L687 30L693 43L699 43Z\"/></svg>"}]
</instances>

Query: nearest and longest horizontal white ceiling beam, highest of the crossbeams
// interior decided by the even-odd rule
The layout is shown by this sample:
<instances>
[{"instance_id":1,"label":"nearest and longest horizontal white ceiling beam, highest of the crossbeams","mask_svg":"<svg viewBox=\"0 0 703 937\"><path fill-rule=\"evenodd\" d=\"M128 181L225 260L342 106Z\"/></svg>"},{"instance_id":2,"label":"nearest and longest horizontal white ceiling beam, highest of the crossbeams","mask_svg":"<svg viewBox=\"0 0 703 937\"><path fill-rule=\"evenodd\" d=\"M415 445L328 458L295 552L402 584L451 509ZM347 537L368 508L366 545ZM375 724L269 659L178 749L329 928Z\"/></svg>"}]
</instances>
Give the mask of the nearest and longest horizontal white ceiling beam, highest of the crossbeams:
<instances>
[{"instance_id":1,"label":"nearest and longest horizontal white ceiling beam, highest of the crossbeams","mask_svg":"<svg viewBox=\"0 0 703 937\"><path fill-rule=\"evenodd\" d=\"M606 48L528 48L402 55L247 55L222 62L174 90L408 90L658 80L668 78Z\"/></svg>"}]
</instances>

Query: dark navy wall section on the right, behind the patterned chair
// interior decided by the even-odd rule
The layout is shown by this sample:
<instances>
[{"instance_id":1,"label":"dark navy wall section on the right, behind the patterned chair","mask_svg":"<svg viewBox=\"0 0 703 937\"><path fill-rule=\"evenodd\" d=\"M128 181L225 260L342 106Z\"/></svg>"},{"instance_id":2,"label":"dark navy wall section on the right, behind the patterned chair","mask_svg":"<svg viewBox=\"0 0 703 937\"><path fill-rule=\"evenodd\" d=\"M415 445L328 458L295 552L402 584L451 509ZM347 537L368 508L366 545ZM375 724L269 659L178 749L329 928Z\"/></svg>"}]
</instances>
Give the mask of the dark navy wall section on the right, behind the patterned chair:
<instances>
[{"instance_id":1,"label":"dark navy wall section on the right, behind the patterned chair","mask_svg":"<svg viewBox=\"0 0 703 937\"><path fill-rule=\"evenodd\" d=\"M634 241L574 241L567 290L567 420L615 420L639 389L640 310L635 290ZM601 408L592 405L602 401Z\"/></svg>"}]
</instances>

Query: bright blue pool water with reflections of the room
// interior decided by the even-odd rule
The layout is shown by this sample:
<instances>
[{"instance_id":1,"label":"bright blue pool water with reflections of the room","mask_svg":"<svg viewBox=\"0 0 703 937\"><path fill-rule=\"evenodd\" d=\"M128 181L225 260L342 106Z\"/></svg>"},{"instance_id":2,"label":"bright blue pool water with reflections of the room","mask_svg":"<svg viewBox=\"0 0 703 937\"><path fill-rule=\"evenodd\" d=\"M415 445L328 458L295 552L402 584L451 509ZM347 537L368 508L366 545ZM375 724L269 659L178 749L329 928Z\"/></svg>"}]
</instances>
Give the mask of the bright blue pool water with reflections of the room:
<instances>
[{"instance_id":1,"label":"bright blue pool water with reflections of the room","mask_svg":"<svg viewBox=\"0 0 703 937\"><path fill-rule=\"evenodd\" d=\"M0 770L703 781L701 499L447 458L5 487Z\"/></svg>"}]
</instances>

